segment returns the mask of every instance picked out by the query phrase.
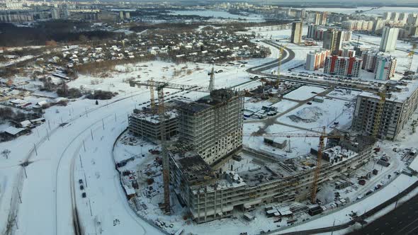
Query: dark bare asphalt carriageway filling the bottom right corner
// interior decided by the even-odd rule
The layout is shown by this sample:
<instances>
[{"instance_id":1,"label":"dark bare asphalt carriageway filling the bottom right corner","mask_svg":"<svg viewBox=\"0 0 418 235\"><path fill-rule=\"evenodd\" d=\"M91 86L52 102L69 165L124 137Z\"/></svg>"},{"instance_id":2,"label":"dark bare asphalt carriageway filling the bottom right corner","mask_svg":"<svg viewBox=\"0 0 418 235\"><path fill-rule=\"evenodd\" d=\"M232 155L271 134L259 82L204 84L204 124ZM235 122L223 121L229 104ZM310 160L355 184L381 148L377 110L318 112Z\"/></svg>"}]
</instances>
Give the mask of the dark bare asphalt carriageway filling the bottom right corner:
<instances>
[{"instance_id":1,"label":"dark bare asphalt carriageway filling the bottom right corner","mask_svg":"<svg viewBox=\"0 0 418 235\"><path fill-rule=\"evenodd\" d=\"M408 235L418 234L418 195L376 219L363 229L349 235Z\"/></svg>"}]
</instances>

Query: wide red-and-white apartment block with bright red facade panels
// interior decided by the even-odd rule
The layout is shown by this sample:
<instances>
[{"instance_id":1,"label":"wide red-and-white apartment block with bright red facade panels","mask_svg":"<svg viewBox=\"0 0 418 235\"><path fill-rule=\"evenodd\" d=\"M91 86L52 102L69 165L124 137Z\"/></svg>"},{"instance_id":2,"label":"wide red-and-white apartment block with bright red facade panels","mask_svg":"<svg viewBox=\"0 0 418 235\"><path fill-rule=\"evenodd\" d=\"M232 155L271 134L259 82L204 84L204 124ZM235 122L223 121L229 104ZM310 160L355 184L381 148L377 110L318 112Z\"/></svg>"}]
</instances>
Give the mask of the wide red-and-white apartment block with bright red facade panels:
<instances>
[{"instance_id":1,"label":"wide red-and-white apartment block with bright red facade panels","mask_svg":"<svg viewBox=\"0 0 418 235\"><path fill-rule=\"evenodd\" d=\"M358 76L363 59L356 57L328 56L325 59L324 73L342 76Z\"/></svg>"}]
</instances>

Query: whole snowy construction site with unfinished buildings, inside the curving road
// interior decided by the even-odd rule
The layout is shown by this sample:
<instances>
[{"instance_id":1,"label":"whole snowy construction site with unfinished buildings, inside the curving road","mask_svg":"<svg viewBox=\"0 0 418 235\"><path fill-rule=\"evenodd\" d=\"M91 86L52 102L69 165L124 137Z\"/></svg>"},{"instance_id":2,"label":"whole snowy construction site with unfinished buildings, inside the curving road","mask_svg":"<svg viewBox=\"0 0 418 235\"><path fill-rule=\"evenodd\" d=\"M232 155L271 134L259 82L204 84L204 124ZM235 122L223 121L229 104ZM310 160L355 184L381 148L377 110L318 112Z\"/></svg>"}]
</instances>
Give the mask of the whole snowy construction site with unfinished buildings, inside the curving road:
<instances>
[{"instance_id":1,"label":"whole snowy construction site with unfinished buildings, inside the curving road","mask_svg":"<svg viewBox=\"0 0 418 235\"><path fill-rule=\"evenodd\" d=\"M281 59L276 66L280 74ZM135 165L126 176L142 182L125 192L157 227L224 226L224 218L256 228L292 225L361 200L399 175L400 160L376 142L395 139L416 110L412 76L361 90L268 76L215 88L214 74L209 86L130 80L149 88L151 100L128 116L128 134L142 139L141 153L156 156L122 160ZM260 214L274 221L253 222Z\"/></svg>"}]
</instances>

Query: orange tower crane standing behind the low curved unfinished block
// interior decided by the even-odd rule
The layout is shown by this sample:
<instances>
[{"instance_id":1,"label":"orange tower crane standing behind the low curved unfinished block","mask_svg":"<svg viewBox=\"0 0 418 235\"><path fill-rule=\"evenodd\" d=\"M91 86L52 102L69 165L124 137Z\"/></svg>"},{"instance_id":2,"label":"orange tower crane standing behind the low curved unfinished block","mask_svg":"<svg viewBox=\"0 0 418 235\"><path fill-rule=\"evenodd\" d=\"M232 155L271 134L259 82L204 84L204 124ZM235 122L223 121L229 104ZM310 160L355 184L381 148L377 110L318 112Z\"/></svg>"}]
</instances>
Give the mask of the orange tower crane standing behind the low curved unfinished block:
<instances>
[{"instance_id":1,"label":"orange tower crane standing behind the low curved unfinished block","mask_svg":"<svg viewBox=\"0 0 418 235\"><path fill-rule=\"evenodd\" d=\"M252 134L244 134L244 136L253 136ZM322 130L320 133L310 133L310 134L301 134L301 133L272 133L272 134L263 134L261 137L301 137L301 138L307 138L307 137L314 137L314 138L320 138L320 144L318 146L318 154L317 154L317 167L314 171L314 177L312 181L312 188L310 193L310 200L312 203L315 203L317 200L317 188L318 188L318 182L320 180L320 173L321 173L321 164L322 164L322 152L324 151L324 139L341 139L344 137L344 135L338 135L338 134L327 134L326 127L322 127Z\"/></svg>"}]
</instances>

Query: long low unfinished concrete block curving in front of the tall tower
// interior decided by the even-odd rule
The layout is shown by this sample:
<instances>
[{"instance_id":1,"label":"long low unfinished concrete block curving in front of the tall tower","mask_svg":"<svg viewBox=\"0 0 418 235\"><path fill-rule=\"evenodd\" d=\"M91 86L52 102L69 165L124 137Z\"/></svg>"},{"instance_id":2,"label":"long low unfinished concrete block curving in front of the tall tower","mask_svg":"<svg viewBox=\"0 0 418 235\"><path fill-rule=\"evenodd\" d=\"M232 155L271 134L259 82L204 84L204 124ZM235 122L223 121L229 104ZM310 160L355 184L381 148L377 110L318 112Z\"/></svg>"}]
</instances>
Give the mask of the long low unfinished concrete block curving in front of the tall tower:
<instances>
[{"instance_id":1,"label":"long low unfinished concrete block curving in front of the tall tower","mask_svg":"<svg viewBox=\"0 0 418 235\"><path fill-rule=\"evenodd\" d=\"M361 151L335 146L323 151L319 188L340 176L353 176L356 169L371 160L371 145L361 145ZM316 168L313 155L286 161L270 160L254 155L258 168L211 168L199 156L173 151L171 156L171 183L176 194L191 212L197 223L229 217L233 210L249 211L271 202L302 201L310 197ZM315 153L315 154L314 154Z\"/></svg>"}]
</instances>

